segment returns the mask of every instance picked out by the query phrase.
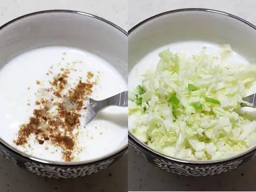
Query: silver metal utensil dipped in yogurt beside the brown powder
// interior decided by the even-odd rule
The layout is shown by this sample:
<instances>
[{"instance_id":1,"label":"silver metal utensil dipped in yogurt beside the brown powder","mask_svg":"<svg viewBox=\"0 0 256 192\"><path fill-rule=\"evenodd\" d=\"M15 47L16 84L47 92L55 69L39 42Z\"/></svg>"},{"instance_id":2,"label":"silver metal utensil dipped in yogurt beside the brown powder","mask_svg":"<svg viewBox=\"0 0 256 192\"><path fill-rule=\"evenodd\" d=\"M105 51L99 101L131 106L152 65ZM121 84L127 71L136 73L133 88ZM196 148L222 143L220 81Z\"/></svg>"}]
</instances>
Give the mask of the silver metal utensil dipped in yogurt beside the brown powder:
<instances>
[{"instance_id":1,"label":"silver metal utensil dipped in yogurt beside the brown powder","mask_svg":"<svg viewBox=\"0 0 256 192\"><path fill-rule=\"evenodd\" d=\"M108 108L109 106L122 106L127 107L128 106L128 91L121 92L117 95L114 95L112 97L109 97L104 100L94 100L89 99L89 104L87 107L87 119L86 124L91 122L94 117L97 115L98 112L102 111L105 108Z\"/></svg>"}]
</instances>

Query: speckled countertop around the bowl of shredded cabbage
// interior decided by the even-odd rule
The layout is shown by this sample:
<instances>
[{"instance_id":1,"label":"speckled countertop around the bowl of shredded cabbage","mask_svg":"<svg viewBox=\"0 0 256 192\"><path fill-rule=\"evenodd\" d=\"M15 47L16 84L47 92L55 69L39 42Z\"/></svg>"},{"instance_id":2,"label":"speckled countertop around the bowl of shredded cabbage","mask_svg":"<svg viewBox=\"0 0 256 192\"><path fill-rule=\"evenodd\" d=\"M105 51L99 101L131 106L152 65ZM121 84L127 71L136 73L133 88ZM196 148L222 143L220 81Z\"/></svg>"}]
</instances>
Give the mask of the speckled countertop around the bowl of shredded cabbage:
<instances>
[{"instance_id":1,"label":"speckled countertop around the bowl of shredded cabbage","mask_svg":"<svg viewBox=\"0 0 256 192\"><path fill-rule=\"evenodd\" d=\"M254 0L129 0L129 29L155 14L181 8L209 8L238 15L256 25ZM256 159L232 172L211 177L182 177L160 170L129 150L130 191L256 190Z\"/></svg>"}]
</instances>

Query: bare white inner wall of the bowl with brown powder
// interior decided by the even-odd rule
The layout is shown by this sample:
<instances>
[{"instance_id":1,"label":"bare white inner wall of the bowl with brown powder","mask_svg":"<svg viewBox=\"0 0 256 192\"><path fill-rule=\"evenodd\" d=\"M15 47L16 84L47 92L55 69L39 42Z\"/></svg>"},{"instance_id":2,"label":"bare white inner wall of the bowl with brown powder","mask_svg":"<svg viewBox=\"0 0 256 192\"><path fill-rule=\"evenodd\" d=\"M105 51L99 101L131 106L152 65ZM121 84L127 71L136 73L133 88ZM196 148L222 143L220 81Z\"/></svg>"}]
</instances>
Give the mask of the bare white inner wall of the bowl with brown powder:
<instances>
[{"instance_id":1,"label":"bare white inner wall of the bowl with brown powder","mask_svg":"<svg viewBox=\"0 0 256 192\"><path fill-rule=\"evenodd\" d=\"M2 27L0 68L19 54L48 46L73 47L95 54L111 63L127 81L128 51L125 32L105 20L73 11L31 14ZM3 129L5 127L2 127L2 131ZM102 158L114 155L125 147L127 138L113 153Z\"/></svg>"}]
</instances>

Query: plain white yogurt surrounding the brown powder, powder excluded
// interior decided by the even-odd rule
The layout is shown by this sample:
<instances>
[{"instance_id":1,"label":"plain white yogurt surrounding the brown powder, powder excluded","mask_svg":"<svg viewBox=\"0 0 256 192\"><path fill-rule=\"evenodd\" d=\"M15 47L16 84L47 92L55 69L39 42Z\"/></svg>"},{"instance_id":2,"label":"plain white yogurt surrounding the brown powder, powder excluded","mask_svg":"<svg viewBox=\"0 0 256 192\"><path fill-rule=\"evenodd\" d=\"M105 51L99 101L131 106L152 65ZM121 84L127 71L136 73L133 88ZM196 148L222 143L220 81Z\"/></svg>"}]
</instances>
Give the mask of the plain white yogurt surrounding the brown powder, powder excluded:
<instances>
[{"instance_id":1,"label":"plain white yogurt surrounding the brown powder, powder excluded","mask_svg":"<svg viewBox=\"0 0 256 192\"><path fill-rule=\"evenodd\" d=\"M13 140L17 139L19 126L27 123L33 114L37 90L40 86L49 88L49 80L68 66L77 69L68 78L72 85L78 77L86 81L89 71L99 76L93 99L108 98L127 90L123 77L108 62L91 53L66 47L47 47L19 55L0 71L0 137L3 140L34 157L63 161L61 150L48 142L39 145L31 136L28 142L31 147L26 145L24 148L16 146ZM49 70L53 75L46 75ZM40 86L36 80L41 82ZM85 129L84 120L80 119L77 146L81 152L74 154L76 161L99 158L127 142L127 109L117 106L105 109Z\"/></svg>"}]
</instances>

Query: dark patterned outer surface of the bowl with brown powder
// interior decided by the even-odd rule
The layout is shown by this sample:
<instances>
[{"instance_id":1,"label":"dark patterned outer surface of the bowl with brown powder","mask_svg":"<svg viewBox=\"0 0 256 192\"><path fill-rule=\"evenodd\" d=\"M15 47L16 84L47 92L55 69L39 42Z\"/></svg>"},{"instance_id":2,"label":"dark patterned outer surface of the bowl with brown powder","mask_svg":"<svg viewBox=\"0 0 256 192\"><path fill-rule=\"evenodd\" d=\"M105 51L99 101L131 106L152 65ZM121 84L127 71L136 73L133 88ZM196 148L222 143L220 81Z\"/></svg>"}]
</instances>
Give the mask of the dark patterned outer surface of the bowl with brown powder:
<instances>
[{"instance_id":1,"label":"dark patterned outer surface of the bowl with brown powder","mask_svg":"<svg viewBox=\"0 0 256 192\"><path fill-rule=\"evenodd\" d=\"M127 150L123 150L97 162L77 165L57 165L49 164L47 162L38 162L32 158L24 157L0 143L0 155L7 159L11 164L25 168L38 176L57 179L77 178L97 173L113 164L116 160L122 157L126 151Z\"/></svg>"}]
</instances>

